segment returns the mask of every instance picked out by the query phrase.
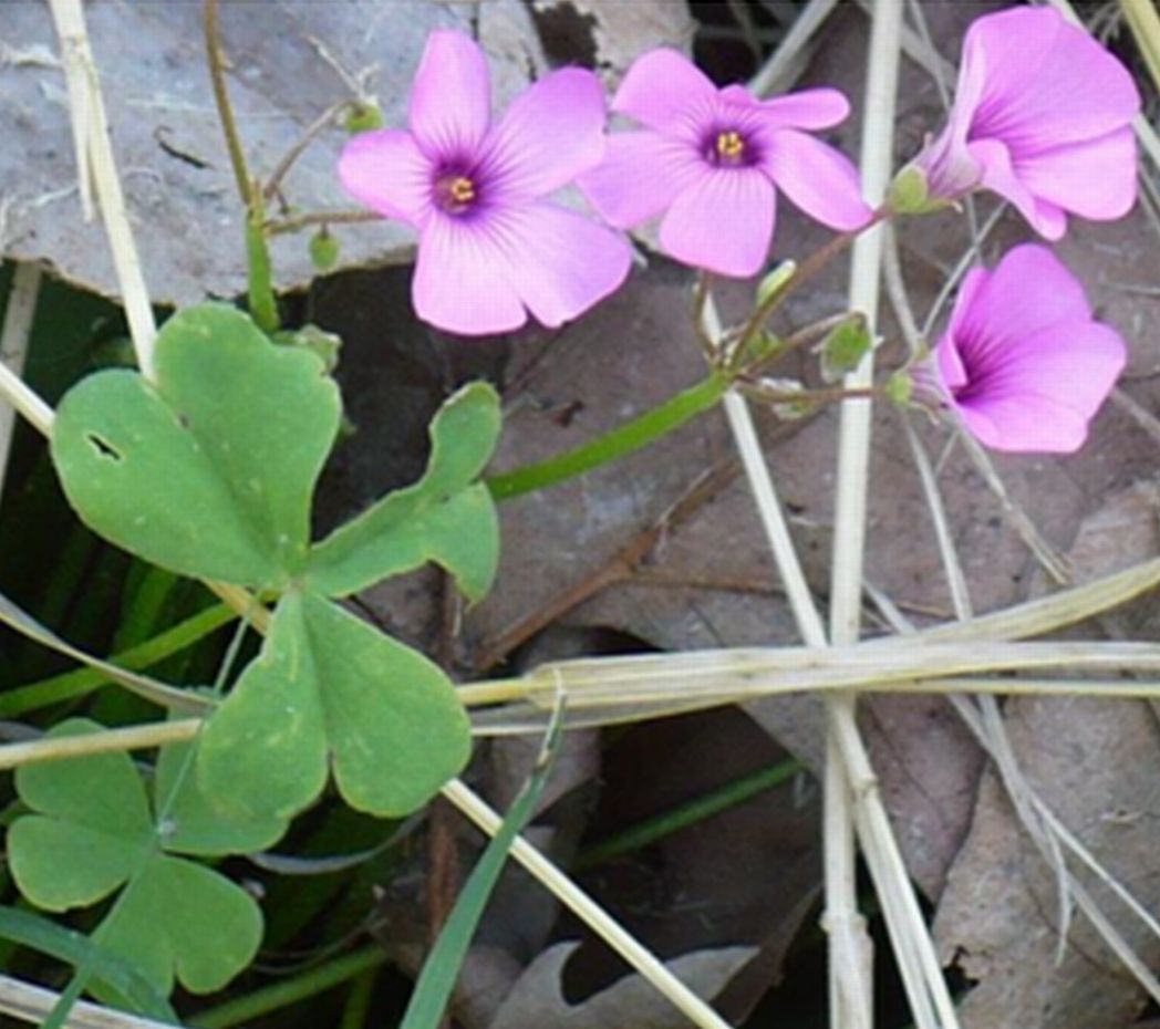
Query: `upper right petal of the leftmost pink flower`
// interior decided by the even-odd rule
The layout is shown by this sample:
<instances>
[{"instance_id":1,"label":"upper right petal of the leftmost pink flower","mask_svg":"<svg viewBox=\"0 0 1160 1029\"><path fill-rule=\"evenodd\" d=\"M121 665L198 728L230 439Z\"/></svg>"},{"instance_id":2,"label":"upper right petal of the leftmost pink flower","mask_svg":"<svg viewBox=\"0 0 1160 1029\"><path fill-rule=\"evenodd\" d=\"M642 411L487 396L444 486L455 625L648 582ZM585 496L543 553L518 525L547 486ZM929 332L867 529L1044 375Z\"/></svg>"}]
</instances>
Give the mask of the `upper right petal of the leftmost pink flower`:
<instances>
[{"instance_id":1,"label":"upper right petal of the leftmost pink flower","mask_svg":"<svg viewBox=\"0 0 1160 1029\"><path fill-rule=\"evenodd\" d=\"M583 68L564 68L524 89L485 143L485 174L503 196L539 197L604 155L604 90Z\"/></svg>"}]
</instances>

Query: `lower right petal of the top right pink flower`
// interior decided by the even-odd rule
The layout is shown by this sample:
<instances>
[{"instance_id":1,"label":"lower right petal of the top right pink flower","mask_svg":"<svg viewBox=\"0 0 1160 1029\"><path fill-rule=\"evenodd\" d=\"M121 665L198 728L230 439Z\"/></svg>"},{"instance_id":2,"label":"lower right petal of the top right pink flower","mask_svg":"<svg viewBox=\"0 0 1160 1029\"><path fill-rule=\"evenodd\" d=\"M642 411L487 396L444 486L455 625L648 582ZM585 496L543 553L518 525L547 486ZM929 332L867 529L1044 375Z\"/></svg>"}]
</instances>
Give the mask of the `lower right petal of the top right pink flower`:
<instances>
[{"instance_id":1,"label":"lower right petal of the top right pink flower","mask_svg":"<svg viewBox=\"0 0 1160 1029\"><path fill-rule=\"evenodd\" d=\"M1044 150L1017 162L1020 180L1042 201L1097 222L1121 218L1136 203L1136 133Z\"/></svg>"}]
</instances>

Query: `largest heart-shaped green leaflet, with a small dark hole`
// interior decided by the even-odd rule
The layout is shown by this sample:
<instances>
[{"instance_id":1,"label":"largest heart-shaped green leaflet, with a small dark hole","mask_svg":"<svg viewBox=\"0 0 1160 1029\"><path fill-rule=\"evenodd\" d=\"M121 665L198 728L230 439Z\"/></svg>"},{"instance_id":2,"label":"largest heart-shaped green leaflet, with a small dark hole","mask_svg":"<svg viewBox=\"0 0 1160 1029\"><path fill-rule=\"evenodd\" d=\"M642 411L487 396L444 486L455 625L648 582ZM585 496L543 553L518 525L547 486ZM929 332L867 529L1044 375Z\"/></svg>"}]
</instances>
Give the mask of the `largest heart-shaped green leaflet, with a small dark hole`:
<instances>
[{"instance_id":1,"label":"largest heart-shaped green leaflet, with a small dark hole","mask_svg":"<svg viewBox=\"0 0 1160 1029\"><path fill-rule=\"evenodd\" d=\"M155 364L155 384L104 371L65 396L52 459L70 503L162 567L284 588L306 560L338 387L316 354L220 304L171 318Z\"/></svg>"}]
</instances>

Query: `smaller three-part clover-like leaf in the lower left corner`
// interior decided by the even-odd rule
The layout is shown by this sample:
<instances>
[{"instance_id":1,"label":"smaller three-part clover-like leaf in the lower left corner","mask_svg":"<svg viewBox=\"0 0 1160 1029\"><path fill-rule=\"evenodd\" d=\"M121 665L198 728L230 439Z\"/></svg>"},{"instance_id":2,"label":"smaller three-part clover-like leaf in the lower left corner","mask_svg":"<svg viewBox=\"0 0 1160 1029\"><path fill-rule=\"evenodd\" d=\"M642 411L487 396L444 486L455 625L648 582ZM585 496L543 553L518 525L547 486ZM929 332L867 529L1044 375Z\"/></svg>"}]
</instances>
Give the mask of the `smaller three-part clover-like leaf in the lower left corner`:
<instances>
[{"instance_id":1,"label":"smaller three-part clover-like leaf in the lower left corner","mask_svg":"<svg viewBox=\"0 0 1160 1029\"><path fill-rule=\"evenodd\" d=\"M78 718L51 735L100 731ZM285 832L283 821L213 816L193 769L182 774L189 746L162 751L153 810L126 754L17 769L16 792L32 813L13 823L7 840L13 877L39 907L85 907L129 884L95 940L166 994L175 976L194 992L219 990L253 959L262 935L245 890L172 854L246 853ZM154 810L165 816L160 829Z\"/></svg>"}]
</instances>

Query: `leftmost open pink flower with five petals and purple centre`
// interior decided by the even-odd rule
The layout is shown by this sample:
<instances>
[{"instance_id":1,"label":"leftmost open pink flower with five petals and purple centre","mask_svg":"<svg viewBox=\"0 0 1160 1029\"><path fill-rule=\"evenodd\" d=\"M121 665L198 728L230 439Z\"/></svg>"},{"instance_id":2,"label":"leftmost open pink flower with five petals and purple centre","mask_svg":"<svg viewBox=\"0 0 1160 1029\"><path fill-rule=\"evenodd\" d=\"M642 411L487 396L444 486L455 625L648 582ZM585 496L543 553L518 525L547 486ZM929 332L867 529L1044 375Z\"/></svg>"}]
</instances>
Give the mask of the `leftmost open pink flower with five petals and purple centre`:
<instances>
[{"instance_id":1,"label":"leftmost open pink flower with five petals and purple centre","mask_svg":"<svg viewBox=\"0 0 1160 1029\"><path fill-rule=\"evenodd\" d=\"M433 32L411 89L409 131L363 132L342 151L351 196L419 233L412 281L425 321L469 335L556 327L612 292L628 242L544 197L604 154L604 95L580 68L545 75L492 124L480 48Z\"/></svg>"}]
</instances>

